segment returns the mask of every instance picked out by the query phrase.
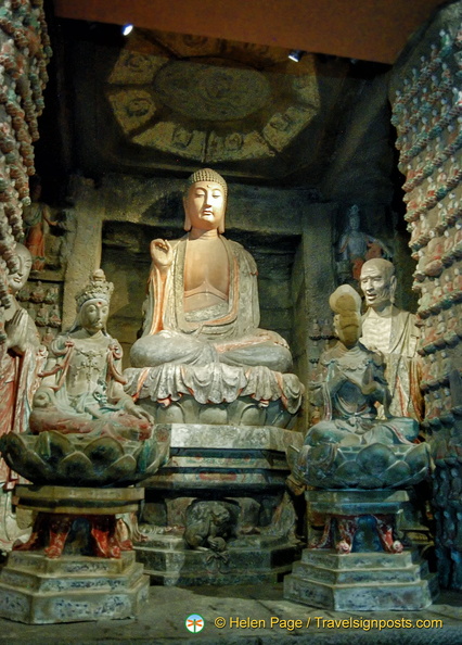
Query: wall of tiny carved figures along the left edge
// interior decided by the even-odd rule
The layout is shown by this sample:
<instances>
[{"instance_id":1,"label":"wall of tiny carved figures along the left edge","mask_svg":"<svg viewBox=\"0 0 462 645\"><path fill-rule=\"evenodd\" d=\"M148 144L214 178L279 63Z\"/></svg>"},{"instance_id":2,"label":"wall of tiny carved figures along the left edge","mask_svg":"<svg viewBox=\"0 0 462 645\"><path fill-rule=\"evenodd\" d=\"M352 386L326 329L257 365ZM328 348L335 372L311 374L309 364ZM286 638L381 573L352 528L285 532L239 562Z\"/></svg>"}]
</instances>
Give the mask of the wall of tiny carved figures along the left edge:
<instances>
[{"instance_id":1,"label":"wall of tiny carved figures along the left edge","mask_svg":"<svg viewBox=\"0 0 462 645\"><path fill-rule=\"evenodd\" d=\"M30 203L28 179L36 172L34 142L39 138L50 55L43 0L4 0L0 8L0 314L9 306L8 271L17 269L14 248L23 235L23 206Z\"/></svg>"}]
</instances>

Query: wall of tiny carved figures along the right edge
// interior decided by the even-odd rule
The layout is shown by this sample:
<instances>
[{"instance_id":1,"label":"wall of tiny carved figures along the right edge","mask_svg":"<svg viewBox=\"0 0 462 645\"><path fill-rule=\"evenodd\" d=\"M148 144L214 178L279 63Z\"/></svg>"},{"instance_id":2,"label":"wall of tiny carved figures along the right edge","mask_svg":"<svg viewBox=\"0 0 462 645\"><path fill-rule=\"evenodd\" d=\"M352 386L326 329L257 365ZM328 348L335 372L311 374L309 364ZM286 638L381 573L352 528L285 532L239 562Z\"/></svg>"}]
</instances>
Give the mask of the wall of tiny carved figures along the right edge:
<instances>
[{"instance_id":1,"label":"wall of tiny carved figures along the right edge","mask_svg":"<svg viewBox=\"0 0 462 645\"><path fill-rule=\"evenodd\" d=\"M462 4L440 11L392 83L423 357L442 586L462 590Z\"/></svg>"}]
</instances>

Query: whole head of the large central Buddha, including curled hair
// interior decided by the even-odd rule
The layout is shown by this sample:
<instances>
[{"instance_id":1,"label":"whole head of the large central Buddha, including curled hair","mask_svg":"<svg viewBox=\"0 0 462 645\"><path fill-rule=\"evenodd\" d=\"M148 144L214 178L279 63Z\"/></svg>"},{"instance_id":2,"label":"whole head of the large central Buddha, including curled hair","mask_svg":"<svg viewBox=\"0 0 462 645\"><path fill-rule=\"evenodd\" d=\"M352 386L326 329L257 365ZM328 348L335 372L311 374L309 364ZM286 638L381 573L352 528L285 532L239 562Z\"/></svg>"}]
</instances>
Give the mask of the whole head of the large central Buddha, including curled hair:
<instances>
[{"instance_id":1,"label":"whole head of the large central Buddha, including curled hair","mask_svg":"<svg viewBox=\"0 0 462 645\"><path fill-rule=\"evenodd\" d=\"M191 175L183 198L184 230L217 229L223 233L227 195L227 182L211 168L202 168Z\"/></svg>"}]
</instances>

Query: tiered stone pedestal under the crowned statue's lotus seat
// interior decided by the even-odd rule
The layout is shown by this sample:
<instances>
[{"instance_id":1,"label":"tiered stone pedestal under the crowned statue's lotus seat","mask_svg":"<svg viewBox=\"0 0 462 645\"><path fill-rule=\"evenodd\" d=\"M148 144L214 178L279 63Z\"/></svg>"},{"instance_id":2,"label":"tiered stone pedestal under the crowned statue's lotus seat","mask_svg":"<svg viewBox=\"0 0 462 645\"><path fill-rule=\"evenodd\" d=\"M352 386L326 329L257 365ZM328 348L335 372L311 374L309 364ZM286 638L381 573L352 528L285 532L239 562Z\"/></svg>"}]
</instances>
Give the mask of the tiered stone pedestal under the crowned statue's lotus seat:
<instances>
[{"instance_id":1,"label":"tiered stone pedestal under the crowned statue's lotus seat","mask_svg":"<svg viewBox=\"0 0 462 645\"><path fill-rule=\"evenodd\" d=\"M37 517L0 573L0 616L30 624L134 618L150 579L118 535L116 515L136 513L143 496L143 489L16 486L18 508Z\"/></svg>"}]
</instances>

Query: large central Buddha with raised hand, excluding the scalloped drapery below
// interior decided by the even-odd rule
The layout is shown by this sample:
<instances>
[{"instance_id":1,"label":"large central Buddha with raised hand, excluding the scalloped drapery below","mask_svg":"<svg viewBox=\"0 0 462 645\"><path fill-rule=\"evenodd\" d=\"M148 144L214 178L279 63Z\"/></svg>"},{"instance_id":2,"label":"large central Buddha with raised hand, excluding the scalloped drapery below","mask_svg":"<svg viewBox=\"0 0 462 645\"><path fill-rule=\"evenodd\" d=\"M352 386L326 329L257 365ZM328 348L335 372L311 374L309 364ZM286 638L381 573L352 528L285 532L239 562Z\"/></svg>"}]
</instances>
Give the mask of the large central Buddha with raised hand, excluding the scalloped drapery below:
<instances>
[{"instance_id":1,"label":"large central Buddha with raised hand, excluding the scalloped drapery below","mask_svg":"<svg viewBox=\"0 0 462 645\"><path fill-rule=\"evenodd\" d=\"M183 198L187 235L151 242L143 333L130 352L133 367L223 363L281 372L291 368L284 339L258 328L253 257L222 235L227 193L218 173L197 170Z\"/></svg>"}]
</instances>

